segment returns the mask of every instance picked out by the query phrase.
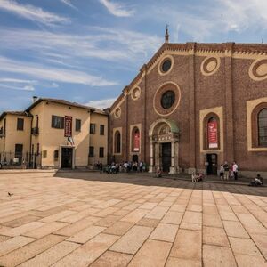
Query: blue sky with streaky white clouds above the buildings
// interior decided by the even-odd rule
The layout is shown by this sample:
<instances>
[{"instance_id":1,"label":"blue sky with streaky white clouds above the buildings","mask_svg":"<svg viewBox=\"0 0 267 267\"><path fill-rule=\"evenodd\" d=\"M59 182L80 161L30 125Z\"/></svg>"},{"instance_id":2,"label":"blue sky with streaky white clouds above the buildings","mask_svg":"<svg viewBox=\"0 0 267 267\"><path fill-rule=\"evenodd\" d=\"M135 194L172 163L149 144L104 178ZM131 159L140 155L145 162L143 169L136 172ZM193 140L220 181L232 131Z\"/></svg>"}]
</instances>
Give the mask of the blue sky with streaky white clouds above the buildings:
<instances>
[{"instance_id":1,"label":"blue sky with streaky white clouds above the buildings","mask_svg":"<svg viewBox=\"0 0 267 267\"><path fill-rule=\"evenodd\" d=\"M266 43L266 0L0 0L0 112L109 105L164 42Z\"/></svg>"}]
</instances>

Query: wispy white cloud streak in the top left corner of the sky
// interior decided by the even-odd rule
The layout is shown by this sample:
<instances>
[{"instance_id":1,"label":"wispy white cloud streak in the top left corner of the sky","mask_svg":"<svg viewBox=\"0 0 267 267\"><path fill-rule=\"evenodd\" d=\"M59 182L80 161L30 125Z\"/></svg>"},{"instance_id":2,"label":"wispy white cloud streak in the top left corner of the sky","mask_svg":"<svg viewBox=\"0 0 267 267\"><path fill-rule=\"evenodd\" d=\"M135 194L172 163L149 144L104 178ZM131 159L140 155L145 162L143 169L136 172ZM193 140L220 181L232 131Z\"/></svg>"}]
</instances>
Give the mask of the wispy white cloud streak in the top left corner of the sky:
<instances>
[{"instance_id":1,"label":"wispy white cloud streak in the top left corner of the sky","mask_svg":"<svg viewBox=\"0 0 267 267\"><path fill-rule=\"evenodd\" d=\"M1 0L0 9L6 12L12 12L25 19L41 22L46 25L69 22L68 18L61 17L52 12L46 12L40 7L30 4L19 4L12 0Z\"/></svg>"}]
</instances>

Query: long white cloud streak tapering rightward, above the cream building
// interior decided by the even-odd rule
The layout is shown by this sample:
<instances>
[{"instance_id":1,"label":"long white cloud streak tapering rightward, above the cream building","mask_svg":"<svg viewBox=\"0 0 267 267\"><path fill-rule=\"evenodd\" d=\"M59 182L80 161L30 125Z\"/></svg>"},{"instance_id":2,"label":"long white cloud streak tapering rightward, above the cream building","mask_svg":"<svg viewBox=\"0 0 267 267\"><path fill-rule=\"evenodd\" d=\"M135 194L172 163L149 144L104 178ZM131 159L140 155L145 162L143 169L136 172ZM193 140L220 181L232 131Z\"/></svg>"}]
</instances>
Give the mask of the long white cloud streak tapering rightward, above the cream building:
<instances>
[{"instance_id":1,"label":"long white cloud streak tapering rightward, above the cream building","mask_svg":"<svg viewBox=\"0 0 267 267\"><path fill-rule=\"evenodd\" d=\"M28 77L55 81L61 83L91 85L91 86L110 86L117 85L116 82L108 81L102 77L89 75L82 71L71 69L58 69L50 66L12 61L0 56L0 70L9 73L20 73Z\"/></svg>"}]
</instances>

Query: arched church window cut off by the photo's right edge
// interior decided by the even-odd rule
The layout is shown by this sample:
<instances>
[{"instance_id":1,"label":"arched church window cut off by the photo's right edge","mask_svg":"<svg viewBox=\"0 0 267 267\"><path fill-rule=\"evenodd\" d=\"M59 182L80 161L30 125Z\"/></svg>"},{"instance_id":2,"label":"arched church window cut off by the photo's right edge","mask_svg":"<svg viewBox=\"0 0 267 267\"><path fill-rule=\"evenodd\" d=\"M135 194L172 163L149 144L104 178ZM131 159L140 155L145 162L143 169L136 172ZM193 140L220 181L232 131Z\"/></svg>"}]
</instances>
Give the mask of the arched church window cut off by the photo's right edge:
<instances>
[{"instance_id":1,"label":"arched church window cut off by the photo's right edge","mask_svg":"<svg viewBox=\"0 0 267 267\"><path fill-rule=\"evenodd\" d=\"M267 103L260 103L251 114L252 147L267 147Z\"/></svg>"}]
</instances>

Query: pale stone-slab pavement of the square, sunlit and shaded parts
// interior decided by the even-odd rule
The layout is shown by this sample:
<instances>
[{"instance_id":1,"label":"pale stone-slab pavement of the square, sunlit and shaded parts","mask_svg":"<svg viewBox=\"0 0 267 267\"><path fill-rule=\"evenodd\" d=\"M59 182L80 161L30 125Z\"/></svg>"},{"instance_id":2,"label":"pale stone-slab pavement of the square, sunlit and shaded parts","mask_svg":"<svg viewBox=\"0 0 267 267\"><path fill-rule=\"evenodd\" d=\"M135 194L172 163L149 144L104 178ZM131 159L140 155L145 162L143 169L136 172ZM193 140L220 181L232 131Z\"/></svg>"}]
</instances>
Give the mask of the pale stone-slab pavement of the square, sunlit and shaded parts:
<instances>
[{"instance_id":1,"label":"pale stone-slab pavement of the square, sunlit and shaded parts","mask_svg":"<svg viewBox=\"0 0 267 267\"><path fill-rule=\"evenodd\" d=\"M266 188L140 174L0 173L0 266L261 267L266 260Z\"/></svg>"}]
</instances>

